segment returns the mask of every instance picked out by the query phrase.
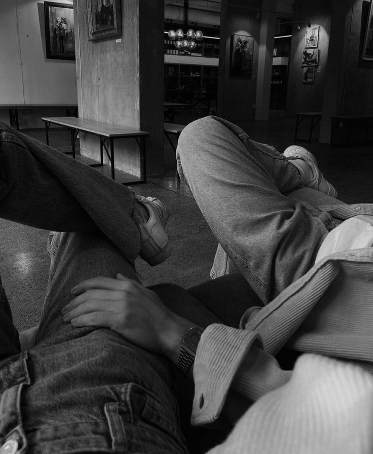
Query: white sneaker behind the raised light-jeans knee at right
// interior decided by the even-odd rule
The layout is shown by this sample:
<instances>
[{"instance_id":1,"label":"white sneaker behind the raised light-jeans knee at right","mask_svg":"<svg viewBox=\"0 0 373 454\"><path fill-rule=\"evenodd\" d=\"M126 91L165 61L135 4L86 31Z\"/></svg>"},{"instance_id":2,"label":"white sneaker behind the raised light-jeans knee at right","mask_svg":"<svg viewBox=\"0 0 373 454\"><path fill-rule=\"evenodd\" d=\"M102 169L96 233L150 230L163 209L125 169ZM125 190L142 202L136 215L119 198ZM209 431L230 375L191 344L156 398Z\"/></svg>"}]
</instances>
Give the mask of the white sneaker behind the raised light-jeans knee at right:
<instances>
[{"instance_id":1,"label":"white sneaker behind the raised light-jeans knee at right","mask_svg":"<svg viewBox=\"0 0 373 454\"><path fill-rule=\"evenodd\" d=\"M316 189L317 191L323 192L331 197L337 197L337 191L327 180L325 180L319 166L317 165L315 156L310 151L300 147L299 145L291 145L284 151L284 156L290 158L290 162L299 169L300 167L296 164L296 162L292 162L294 159L302 159L310 166L312 177L309 182L302 182L305 186ZM303 170L300 169L300 171L301 174L303 174Z\"/></svg>"}]
</instances>

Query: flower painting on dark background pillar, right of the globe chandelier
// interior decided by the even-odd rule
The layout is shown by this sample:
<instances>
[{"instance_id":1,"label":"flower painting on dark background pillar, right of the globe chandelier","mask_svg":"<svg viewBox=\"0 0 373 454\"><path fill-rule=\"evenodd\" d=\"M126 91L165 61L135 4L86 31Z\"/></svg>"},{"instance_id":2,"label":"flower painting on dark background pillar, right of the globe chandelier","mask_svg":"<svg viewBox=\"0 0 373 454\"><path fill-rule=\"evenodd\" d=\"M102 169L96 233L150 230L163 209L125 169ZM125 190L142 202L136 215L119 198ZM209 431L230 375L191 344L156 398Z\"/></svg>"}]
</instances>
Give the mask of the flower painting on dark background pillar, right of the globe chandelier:
<instances>
[{"instance_id":1,"label":"flower painting on dark background pillar, right of the globe chandelier","mask_svg":"<svg viewBox=\"0 0 373 454\"><path fill-rule=\"evenodd\" d=\"M231 36L230 76L237 79L247 79L252 74L252 56L254 38L242 34Z\"/></svg>"}]
</instances>

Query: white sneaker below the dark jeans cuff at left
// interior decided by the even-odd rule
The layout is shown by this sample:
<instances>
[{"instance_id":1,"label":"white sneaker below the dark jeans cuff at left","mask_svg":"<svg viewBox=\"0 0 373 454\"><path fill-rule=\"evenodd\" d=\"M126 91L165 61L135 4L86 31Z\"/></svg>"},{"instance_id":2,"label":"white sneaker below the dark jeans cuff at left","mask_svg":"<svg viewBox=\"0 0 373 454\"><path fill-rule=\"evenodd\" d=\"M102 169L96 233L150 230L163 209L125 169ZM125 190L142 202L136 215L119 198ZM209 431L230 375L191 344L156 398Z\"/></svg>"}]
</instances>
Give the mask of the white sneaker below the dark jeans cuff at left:
<instances>
[{"instance_id":1,"label":"white sneaker below the dark jeans cuff at left","mask_svg":"<svg viewBox=\"0 0 373 454\"><path fill-rule=\"evenodd\" d=\"M165 231L168 221L167 208L156 197L136 195L136 201L141 203L149 214L148 219L145 219L136 213L142 243L139 256L151 266L159 265L170 256L172 251Z\"/></svg>"}]
</instances>

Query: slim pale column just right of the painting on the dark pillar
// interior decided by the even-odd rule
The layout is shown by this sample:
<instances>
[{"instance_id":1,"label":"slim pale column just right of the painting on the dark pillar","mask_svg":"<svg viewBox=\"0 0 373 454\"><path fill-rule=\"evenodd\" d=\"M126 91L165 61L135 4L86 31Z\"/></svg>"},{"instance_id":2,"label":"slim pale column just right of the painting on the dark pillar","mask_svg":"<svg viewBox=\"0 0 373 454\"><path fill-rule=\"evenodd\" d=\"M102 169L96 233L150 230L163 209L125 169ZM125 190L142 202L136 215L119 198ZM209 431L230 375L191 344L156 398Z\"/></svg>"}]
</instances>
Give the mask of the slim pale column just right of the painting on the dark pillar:
<instances>
[{"instance_id":1,"label":"slim pale column just right of the painting on the dark pillar","mask_svg":"<svg viewBox=\"0 0 373 454\"><path fill-rule=\"evenodd\" d=\"M255 120L268 120L271 96L273 41L276 13L271 0L262 1L256 81Z\"/></svg>"}]
</instances>

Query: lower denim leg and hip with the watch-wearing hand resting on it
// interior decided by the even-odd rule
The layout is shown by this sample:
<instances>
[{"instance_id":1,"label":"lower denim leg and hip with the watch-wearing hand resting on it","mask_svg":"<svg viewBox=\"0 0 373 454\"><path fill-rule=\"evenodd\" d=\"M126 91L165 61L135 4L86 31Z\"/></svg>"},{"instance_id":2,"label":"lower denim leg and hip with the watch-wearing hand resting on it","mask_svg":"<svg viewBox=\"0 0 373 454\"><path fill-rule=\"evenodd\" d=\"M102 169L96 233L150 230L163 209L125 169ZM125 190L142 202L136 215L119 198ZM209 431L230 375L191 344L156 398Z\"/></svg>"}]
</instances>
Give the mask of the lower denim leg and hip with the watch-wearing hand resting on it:
<instances>
[{"instance_id":1,"label":"lower denim leg and hip with the watch-wearing hand resting on it","mask_svg":"<svg viewBox=\"0 0 373 454\"><path fill-rule=\"evenodd\" d=\"M15 363L27 386L13 403L6 385L13 369L0 368L0 377L8 374L1 385L9 404L2 407L7 426L0 436L23 434L30 453L41 446L46 452L185 453L168 362L114 331L62 320L72 286L118 272L137 280L131 264L95 233L55 233L50 254L39 343Z\"/></svg>"}]
</instances>

